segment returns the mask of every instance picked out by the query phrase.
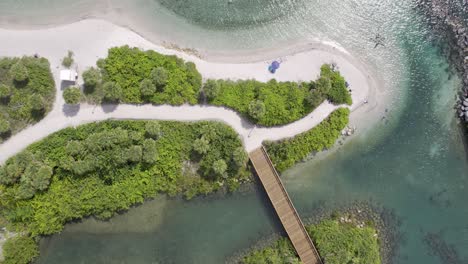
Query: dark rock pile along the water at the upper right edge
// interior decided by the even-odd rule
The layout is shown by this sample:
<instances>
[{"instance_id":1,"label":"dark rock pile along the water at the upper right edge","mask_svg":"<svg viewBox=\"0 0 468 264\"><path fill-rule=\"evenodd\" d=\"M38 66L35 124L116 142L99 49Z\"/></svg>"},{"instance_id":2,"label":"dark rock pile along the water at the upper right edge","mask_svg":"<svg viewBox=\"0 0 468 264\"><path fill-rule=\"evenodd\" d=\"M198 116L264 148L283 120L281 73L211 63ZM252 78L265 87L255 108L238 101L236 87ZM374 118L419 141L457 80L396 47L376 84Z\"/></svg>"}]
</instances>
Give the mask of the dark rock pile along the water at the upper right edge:
<instances>
[{"instance_id":1,"label":"dark rock pile along the water at the upper right edge","mask_svg":"<svg viewBox=\"0 0 468 264\"><path fill-rule=\"evenodd\" d=\"M447 54L463 80L458 116L468 123L468 0L418 0L437 36L448 42Z\"/></svg>"}]
</instances>

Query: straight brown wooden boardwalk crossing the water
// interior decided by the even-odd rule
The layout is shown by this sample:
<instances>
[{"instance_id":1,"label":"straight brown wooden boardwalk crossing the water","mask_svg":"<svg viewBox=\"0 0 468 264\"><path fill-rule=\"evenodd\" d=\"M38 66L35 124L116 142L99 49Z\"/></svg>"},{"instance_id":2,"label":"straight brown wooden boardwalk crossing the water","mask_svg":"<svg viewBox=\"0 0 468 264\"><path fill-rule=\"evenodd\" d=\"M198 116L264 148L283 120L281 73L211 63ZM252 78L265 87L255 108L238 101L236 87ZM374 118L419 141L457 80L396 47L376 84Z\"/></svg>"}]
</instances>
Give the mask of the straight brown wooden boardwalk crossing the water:
<instances>
[{"instance_id":1,"label":"straight brown wooden boardwalk crossing the water","mask_svg":"<svg viewBox=\"0 0 468 264\"><path fill-rule=\"evenodd\" d=\"M297 214L266 150L260 147L252 151L249 156L301 261L304 264L322 264L314 243Z\"/></svg>"}]
</instances>

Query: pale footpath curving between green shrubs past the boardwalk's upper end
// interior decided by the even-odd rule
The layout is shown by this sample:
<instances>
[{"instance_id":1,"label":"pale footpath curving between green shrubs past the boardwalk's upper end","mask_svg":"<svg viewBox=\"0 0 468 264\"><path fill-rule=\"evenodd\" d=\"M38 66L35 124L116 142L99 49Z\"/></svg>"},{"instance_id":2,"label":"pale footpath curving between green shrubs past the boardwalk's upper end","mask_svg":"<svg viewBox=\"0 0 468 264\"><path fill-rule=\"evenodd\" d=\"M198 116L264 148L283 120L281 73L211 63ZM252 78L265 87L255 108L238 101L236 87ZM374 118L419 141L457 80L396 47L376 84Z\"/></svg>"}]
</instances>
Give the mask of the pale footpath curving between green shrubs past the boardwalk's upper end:
<instances>
[{"instance_id":1,"label":"pale footpath curving between green shrubs past the boardwalk's upper end","mask_svg":"<svg viewBox=\"0 0 468 264\"><path fill-rule=\"evenodd\" d=\"M231 126L240 135L247 151L261 146L264 140L279 140L305 132L323 121L337 106L321 104L313 113L294 123L272 128L257 128L233 110L215 106L153 105L81 105L54 109L39 123L19 132L0 145L0 164L9 157L56 131L70 126L106 119L157 119L176 121L218 120Z\"/></svg>"}]
</instances>

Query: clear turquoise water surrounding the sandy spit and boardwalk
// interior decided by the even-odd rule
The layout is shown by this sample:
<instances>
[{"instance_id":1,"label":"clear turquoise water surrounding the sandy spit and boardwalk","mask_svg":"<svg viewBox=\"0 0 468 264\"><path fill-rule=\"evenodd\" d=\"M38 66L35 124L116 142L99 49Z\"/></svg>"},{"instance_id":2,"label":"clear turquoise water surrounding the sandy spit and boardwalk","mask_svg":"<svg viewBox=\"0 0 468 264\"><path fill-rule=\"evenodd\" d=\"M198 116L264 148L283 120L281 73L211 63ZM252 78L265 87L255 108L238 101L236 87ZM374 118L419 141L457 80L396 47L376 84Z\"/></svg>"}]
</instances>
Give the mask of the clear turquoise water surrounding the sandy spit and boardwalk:
<instances>
[{"instance_id":1,"label":"clear turquoise water surrounding the sandy spit and boardwalk","mask_svg":"<svg viewBox=\"0 0 468 264\"><path fill-rule=\"evenodd\" d=\"M45 8L46 3L57 8ZM53 24L121 14L116 22L150 39L157 35L212 52L317 39L340 44L396 99L388 112L379 113L382 119L370 133L284 173L299 213L308 218L317 204L369 202L401 221L394 263L468 261L468 168L452 109L460 80L427 40L411 1L79 0L73 5L73 14L57 20L50 14L64 12L67 1L3 0L0 22ZM374 49L371 38L377 33L385 37L385 47ZM68 225L44 241L38 263L223 263L280 232L263 192L255 188L190 202L161 197L110 222ZM435 252L426 243L429 234L446 250Z\"/></svg>"}]
</instances>

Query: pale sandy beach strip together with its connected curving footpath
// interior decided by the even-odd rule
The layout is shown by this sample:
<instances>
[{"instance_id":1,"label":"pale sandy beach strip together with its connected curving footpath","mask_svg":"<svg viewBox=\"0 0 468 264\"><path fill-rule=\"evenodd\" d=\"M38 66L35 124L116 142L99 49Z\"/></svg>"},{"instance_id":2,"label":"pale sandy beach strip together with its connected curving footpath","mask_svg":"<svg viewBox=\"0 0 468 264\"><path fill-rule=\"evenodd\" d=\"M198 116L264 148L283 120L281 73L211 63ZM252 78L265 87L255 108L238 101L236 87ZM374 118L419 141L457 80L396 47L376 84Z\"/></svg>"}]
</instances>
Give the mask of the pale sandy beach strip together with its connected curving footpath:
<instances>
[{"instance_id":1,"label":"pale sandy beach strip together with its connected curving footpath","mask_svg":"<svg viewBox=\"0 0 468 264\"><path fill-rule=\"evenodd\" d=\"M110 47L129 45L142 49L153 49L163 54L177 55L187 61L193 61L203 78L216 79L257 79L268 81L309 81L320 74L324 63L335 63L352 89L354 104L351 110L369 108L365 100L375 96L375 83L363 71L363 67L349 59L349 55L334 47L312 49L307 52L285 56L276 74L267 71L271 60L257 63L213 63L200 58L168 50L154 45L136 33L115 26L102 20L84 20L70 25L43 30L8 30L0 29L0 56L23 56L39 54L51 63L57 93L52 111L39 123L26 128L0 145L0 164L20 152L28 145L47 135L69 126L76 126L93 121L113 119L159 119L177 121L219 120L233 127L243 139L247 151L259 147L264 140L278 140L292 137L307 131L338 108L328 102L321 104L315 111L294 123L272 128L256 128L242 119L236 112L214 106L153 106L153 105L104 105L83 104L72 107L64 104L62 86L59 81L61 59L68 50L74 52L75 67L78 72L94 66L97 59L107 56ZM323 46L323 45L322 45ZM372 85L371 85L372 84ZM374 101L374 100L373 100ZM359 109L359 112L362 112ZM369 110L369 109L367 109ZM364 109L363 111L367 111Z\"/></svg>"}]
</instances>

